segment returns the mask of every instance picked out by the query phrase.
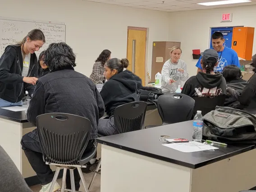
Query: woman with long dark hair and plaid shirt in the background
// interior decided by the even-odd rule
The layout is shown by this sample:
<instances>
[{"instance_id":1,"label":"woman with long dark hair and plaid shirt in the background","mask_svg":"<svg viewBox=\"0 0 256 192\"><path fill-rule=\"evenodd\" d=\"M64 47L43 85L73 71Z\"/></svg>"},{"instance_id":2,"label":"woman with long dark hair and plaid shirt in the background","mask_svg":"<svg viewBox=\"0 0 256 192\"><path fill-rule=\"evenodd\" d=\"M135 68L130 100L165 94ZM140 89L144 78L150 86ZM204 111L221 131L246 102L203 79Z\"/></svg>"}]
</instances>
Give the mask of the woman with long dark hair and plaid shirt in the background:
<instances>
[{"instance_id":1,"label":"woman with long dark hair and plaid shirt in the background","mask_svg":"<svg viewBox=\"0 0 256 192\"><path fill-rule=\"evenodd\" d=\"M93 65L92 72L90 75L90 79L94 84L98 81L105 82L104 73L104 65L105 63L111 59L111 51L110 50L103 50L98 58L95 60L95 64Z\"/></svg>"}]
</instances>

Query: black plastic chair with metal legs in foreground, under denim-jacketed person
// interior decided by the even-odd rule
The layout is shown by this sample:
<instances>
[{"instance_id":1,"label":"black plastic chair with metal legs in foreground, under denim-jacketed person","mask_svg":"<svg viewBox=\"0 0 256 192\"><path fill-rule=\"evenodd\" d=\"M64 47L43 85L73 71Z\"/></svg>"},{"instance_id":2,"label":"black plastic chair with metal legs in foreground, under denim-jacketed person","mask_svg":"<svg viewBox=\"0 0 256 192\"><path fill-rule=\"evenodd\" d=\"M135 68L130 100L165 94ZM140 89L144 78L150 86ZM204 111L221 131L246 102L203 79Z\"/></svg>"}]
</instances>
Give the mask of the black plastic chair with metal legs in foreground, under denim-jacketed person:
<instances>
[{"instance_id":1,"label":"black plastic chair with metal legs in foreground, under denim-jacketed person","mask_svg":"<svg viewBox=\"0 0 256 192\"><path fill-rule=\"evenodd\" d=\"M81 167L86 168L96 154L97 148L84 153L91 133L89 119L73 114L50 113L37 116L37 130L43 159L47 165L57 167L50 192L57 180L59 170L64 169L61 192L75 192L73 169L78 169L85 192L88 192ZM65 189L67 169L70 170L72 190Z\"/></svg>"}]
</instances>

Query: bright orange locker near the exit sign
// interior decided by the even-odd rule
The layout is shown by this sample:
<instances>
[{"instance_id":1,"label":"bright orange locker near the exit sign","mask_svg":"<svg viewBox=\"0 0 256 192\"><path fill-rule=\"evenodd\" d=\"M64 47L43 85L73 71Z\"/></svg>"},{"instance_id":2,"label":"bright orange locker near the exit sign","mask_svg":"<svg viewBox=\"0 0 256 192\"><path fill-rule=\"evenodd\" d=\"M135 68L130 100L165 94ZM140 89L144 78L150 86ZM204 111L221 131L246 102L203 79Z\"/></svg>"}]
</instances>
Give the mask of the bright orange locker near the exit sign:
<instances>
[{"instance_id":1,"label":"bright orange locker near the exit sign","mask_svg":"<svg viewBox=\"0 0 256 192\"><path fill-rule=\"evenodd\" d=\"M254 27L234 27L232 37L232 49L246 60L251 60L254 37Z\"/></svg>"}]
</instances>

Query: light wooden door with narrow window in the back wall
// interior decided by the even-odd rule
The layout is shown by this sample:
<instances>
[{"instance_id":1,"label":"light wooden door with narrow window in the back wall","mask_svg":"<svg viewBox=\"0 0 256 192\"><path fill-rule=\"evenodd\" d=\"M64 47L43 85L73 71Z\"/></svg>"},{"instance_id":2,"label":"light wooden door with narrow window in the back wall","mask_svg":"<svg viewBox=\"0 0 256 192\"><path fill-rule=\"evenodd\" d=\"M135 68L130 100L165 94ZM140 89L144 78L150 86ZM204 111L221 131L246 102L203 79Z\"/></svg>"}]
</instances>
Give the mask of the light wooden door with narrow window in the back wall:
<instances>
[{"instance_id":1,"label":"light wooden door with narrow window in the back wall","mask_svg":"<svg viewBox=\"0 0 256 192\"><path fill-rule=\"evenodd\" d=\"M146 28L128 27L127 38L128 70L142 79L142 85L146 82Z\"/></svg>"}]
</instances>

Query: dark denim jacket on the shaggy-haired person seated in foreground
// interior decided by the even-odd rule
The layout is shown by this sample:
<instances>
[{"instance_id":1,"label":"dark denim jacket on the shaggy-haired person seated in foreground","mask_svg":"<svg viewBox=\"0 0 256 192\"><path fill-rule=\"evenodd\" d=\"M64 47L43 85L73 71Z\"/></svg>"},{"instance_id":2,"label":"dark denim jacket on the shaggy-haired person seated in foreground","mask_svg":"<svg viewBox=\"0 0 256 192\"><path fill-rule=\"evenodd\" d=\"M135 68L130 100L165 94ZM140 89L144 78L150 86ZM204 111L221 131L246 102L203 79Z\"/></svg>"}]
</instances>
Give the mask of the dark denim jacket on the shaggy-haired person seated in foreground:
<instances>
[{"instance_id":1,"label":"dark denim jacket on the shaggy-haired person seated in foreground","mask_svg":"<svg viewBox=\"0 0 256 192\"><path fill-rule=\"evenodd\" d=\"M38 79L27 110L27 120L36 126L38 115L68 113L91 121L90 139L95 139L99 119L104 115L104 102L96 85L73 68L52 71ZM39 141L37 129L29 136Z\"/></svg>"}]
</instances>

